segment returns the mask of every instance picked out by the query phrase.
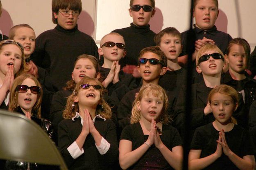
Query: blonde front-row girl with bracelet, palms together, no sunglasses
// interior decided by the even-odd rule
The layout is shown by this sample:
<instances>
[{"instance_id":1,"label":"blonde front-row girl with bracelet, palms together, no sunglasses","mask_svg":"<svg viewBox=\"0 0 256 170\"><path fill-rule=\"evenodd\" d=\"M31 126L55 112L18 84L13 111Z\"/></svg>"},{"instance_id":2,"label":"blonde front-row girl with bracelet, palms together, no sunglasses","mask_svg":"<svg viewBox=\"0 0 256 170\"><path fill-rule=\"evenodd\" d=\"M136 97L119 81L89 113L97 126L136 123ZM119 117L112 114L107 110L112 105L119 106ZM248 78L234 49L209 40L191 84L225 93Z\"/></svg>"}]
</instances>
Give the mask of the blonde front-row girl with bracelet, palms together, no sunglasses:
<instances>
[{"instance_id":1,"label":"blonde front-row girl with bracelet, palms together, no sunglasses","mask_svg":"<svg viewBox=\"0 0 256 170\"><path fill-rule=\"evenodd\" d=\"M181 169L183 149L177 129L168 123L168 97L159 85L141 87L131 111L131 125L122 131L122 169Z\"/></svg>"}]
</instances>

